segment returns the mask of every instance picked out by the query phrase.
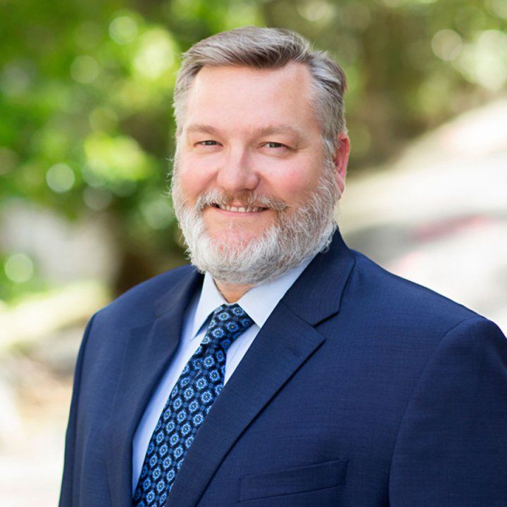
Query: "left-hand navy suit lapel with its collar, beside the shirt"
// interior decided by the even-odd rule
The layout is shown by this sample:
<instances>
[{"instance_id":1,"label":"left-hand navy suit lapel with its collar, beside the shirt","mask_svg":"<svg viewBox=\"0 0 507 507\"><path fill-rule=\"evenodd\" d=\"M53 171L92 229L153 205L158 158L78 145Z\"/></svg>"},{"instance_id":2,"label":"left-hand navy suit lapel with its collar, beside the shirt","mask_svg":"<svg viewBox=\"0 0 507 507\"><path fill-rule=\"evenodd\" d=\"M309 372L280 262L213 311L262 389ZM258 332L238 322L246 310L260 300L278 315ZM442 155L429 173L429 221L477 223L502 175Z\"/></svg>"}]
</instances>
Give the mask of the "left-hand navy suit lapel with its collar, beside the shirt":
<instances>
[{"instance_id":1,"label":"left-hand navy suit lapel with its collar, beside the shirt","mask_svg":"<svg viewBox=\"0 0 507 507\"><path fill-rule=\"evenodd\" d=\"M156 304L156 318L134 327L125 345L106 449L113 505L132 503L132 439L180 344L185 310L201 277L192 270Z\"/></svg>"}]
</instances>

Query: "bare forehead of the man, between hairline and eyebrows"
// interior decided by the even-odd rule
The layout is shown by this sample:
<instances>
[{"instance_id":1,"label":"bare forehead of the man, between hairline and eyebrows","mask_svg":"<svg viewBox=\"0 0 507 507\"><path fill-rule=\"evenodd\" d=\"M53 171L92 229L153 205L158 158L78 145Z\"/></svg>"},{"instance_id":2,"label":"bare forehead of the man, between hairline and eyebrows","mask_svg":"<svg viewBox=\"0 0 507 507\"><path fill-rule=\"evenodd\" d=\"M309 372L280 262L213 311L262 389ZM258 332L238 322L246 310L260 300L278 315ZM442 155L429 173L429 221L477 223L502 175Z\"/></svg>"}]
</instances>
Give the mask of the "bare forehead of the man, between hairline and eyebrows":
<instances>
[{"instance_id":1,"label":"bare forehead of the man, between hairline and eyebrows","mask_svg":"<svg viewBox=\"0 0 507 507\"><path fill-rule=\"evenodd\" d=\"M311 79L302 63L277 69L205 66L189 89L183 128L199 123L238 131L292 124L319 130Z\"/></svg>"}]
</instances>

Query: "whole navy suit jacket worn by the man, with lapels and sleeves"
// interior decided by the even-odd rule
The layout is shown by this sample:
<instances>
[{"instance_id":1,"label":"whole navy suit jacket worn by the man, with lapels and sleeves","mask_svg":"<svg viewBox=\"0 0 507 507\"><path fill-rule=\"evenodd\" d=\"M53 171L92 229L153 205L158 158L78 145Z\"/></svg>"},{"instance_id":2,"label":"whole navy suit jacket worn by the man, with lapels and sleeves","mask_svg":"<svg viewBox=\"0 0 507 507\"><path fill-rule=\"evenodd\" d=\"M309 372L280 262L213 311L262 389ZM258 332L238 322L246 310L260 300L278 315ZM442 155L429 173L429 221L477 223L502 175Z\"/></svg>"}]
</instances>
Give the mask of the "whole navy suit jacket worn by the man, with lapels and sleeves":
<instances>
[{"instance_id":1,"label":"whole navy suit jacket worn by the man, with lapels and sleeves","mask_svg":"<svg viewBox=\"0 0 507 507\"><path fill-rule=\"evenodd\" d=\"M132 505L132 437L180 341L190 266L96 313L77 359L61 507ZM339 233L215 401L167 507L505 507L507 340Z\"/></svg>"}]
</instances>

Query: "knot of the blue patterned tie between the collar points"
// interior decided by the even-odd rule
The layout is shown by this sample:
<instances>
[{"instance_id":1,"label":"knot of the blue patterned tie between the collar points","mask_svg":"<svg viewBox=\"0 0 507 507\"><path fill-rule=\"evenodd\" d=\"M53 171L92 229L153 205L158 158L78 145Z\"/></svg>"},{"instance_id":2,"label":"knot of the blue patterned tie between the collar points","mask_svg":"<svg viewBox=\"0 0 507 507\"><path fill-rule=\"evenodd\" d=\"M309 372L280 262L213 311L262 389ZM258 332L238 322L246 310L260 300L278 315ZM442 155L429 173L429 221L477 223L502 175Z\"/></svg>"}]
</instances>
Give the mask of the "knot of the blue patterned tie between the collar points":
<instances>
[{"instance_id":1,"label":"knot of the blue patterned tie between the collar points","mask_svg":"<svg viewBox=\"0 0 507 507\"><path fill-rule=\"evenodd\" d=\"M207 334L227 352L232 342L252 324L253 320L239 304L223 304L213 312Z\"/></svg>"}]
</instances>

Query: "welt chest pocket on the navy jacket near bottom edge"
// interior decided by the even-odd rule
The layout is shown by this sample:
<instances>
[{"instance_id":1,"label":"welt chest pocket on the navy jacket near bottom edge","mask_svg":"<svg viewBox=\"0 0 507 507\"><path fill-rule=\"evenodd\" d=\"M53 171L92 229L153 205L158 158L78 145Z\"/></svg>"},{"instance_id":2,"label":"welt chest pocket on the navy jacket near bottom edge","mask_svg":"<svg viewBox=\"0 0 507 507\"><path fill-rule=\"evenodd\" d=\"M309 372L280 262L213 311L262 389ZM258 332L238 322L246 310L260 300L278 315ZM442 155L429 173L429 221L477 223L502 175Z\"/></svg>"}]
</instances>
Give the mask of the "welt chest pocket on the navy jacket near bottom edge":
<instances>
[{"instance_id":1,"label":"welt chest pocket on the navy jacket near bottom edge","mask_svg":"<svg viewBox=\"0 0 507 507\"><path fill-rule=\"evenodd\" d=\"M240 480L239 501L269 498L345 484L347 461L327 461L277 472L252 474Z\"/></svg>"}]
</instances>

